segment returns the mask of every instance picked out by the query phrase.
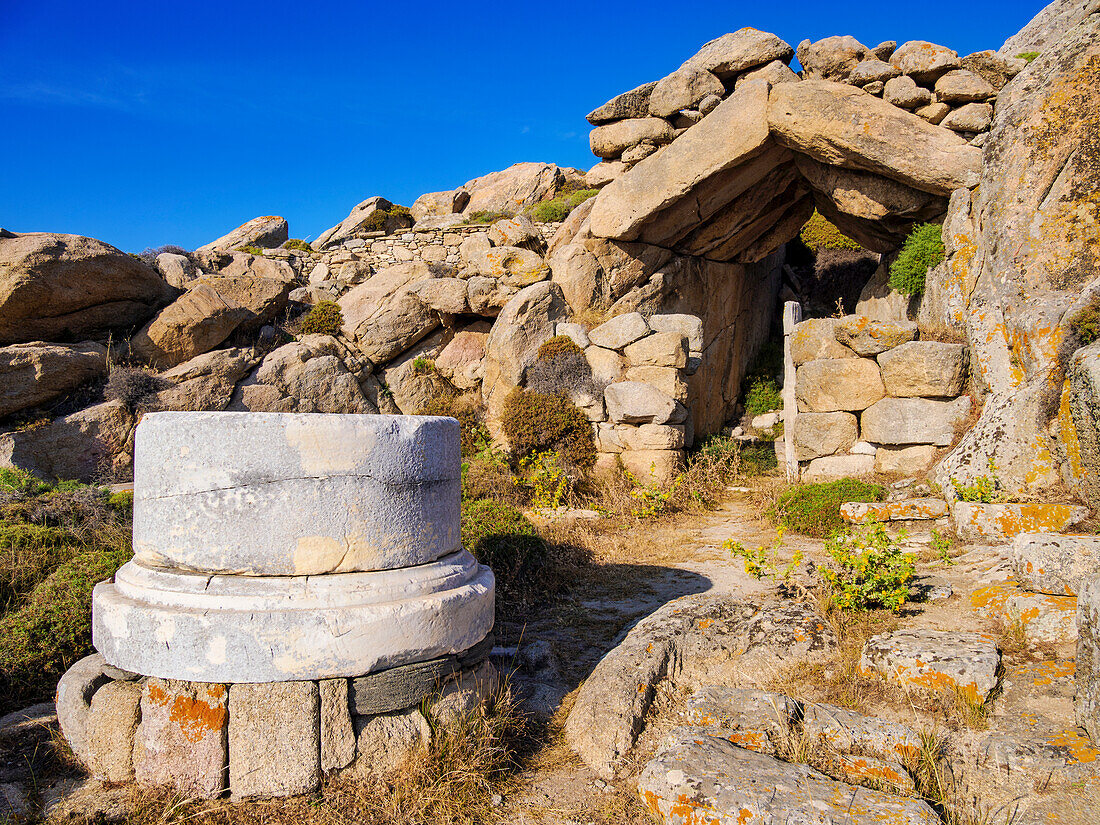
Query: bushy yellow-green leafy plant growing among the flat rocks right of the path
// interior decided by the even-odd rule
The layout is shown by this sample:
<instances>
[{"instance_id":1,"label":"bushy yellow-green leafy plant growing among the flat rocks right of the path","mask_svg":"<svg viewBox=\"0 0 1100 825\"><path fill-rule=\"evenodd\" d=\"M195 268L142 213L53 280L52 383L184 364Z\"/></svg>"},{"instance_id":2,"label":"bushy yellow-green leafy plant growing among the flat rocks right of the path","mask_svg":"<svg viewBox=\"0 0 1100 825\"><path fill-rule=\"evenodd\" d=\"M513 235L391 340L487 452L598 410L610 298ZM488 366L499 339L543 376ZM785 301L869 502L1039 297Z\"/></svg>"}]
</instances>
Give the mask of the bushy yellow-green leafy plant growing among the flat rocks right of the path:
<instances>
[{"instance_id":1,"label":"bushy yellow-green leafy plant growing among the flat rocks right of the path","mask_svg":"<svg viewBox=\"0 0 1100 825\"><path fill-rule=\"evenodd\" d=\"M894 539L872 521L834 536L825 543L832 565L817 572L829 587L831 602L844 610L884 607L898 613L909 597L914 557L903 552L902 532Z\"/></svg>"}]
</instances>

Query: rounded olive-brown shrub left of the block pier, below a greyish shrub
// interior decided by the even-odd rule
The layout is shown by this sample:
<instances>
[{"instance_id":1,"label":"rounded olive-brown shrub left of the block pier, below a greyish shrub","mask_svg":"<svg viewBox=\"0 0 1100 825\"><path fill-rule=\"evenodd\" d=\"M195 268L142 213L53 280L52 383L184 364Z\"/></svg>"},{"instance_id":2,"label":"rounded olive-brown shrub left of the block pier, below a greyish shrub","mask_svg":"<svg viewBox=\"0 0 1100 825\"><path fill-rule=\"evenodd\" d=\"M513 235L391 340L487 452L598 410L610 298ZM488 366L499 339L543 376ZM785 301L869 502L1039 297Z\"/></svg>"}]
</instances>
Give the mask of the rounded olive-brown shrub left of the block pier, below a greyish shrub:
<instances>
[{"instance_id":1,"label":"rounded olive-brown shrub left of the block pier, below a greyish shrub","mask_svg":"<svg viewBox=\"0 0 1100 825\"><path fill-rule=\"evenodd\" d=\"M587 471L596 462L596 443L587 417L569 398L518 387L505 399L501 426L514 461L556 452L566 468Z\"/></svg>"}]
</instances>

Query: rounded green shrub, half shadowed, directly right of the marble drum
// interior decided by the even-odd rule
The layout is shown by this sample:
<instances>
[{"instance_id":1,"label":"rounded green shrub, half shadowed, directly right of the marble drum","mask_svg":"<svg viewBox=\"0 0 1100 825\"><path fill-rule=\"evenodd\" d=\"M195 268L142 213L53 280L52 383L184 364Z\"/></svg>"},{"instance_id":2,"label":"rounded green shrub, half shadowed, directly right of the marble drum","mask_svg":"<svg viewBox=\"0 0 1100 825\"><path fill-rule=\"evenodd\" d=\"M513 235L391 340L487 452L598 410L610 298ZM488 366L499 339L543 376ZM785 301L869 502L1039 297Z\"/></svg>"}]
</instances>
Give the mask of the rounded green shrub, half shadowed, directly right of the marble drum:
<instances>
[{"instance_id":1,"label":"rounded green shrub, half shadowed, directly right of the marble drum","mask_svg":"<svg viewBox=\"0 0 1100 825\"><path fill-rule=\"evenodd\" d=\"M539 585L544 542L516 507L491 498L462 503L462 547L496 576L497 594L522 601Z\"/></svg>"}]
</instances>

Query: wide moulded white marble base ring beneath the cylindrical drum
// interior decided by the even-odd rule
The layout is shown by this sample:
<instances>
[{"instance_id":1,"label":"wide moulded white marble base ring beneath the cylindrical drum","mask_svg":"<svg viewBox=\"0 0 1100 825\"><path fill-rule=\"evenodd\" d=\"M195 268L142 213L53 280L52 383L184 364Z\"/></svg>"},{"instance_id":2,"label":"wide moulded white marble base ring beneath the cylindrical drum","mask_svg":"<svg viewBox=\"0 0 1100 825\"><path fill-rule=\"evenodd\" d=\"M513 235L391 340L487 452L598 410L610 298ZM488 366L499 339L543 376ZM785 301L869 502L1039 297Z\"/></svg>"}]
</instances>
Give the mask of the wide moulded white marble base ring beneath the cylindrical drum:
<instances>
[{"instance_id":1,"label":"wide moulded white marble base ring beneath the cylindrical drum","mask_svg":"<svg viewBox=\"0 0 1100 825\"><path fill-rule=\"evenodd\" d=\"M468 650L494 580L466 551L404 570L200 575L132 561L92 593L92 642L119 668L193 682L359 676Z\"/></svg>"}]
</instances>

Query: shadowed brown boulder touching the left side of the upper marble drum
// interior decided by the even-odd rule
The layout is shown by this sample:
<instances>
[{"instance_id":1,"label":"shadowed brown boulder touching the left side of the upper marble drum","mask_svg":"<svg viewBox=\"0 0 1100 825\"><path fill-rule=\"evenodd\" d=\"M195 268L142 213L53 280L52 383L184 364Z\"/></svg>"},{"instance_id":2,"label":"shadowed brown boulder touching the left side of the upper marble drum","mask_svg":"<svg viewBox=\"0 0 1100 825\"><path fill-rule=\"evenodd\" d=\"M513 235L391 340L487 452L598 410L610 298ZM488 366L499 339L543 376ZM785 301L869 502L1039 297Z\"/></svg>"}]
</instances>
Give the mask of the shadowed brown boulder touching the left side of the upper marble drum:
<instances>
[{"instance_id":1,"label":"shadowed brown boulder touching the left side of the upper marble drum","mask_svg":"<svg viewBox=\"0 0 1100 825\"><path fill-rule=\"evenodd\" d=\"M0 432L0 468L41 479L127 477L133 425L122 402L105 402L43 427Z\"/></svg>"}]
</instances>

